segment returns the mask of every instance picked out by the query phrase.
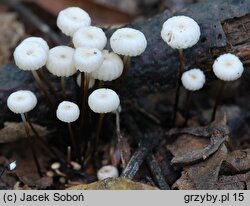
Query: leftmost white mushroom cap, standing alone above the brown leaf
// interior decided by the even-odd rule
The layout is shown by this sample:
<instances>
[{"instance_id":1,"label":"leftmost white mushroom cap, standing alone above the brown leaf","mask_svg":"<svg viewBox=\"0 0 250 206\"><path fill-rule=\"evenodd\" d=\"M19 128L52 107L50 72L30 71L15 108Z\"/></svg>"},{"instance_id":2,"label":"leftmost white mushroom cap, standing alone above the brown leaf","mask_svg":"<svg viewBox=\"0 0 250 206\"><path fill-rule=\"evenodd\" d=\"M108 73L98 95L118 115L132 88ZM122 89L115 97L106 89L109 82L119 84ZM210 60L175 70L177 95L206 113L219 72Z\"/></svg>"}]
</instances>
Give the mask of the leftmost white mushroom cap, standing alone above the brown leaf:
<instances>
[{"instance_id":1,"label":"leftmost white mushroom cap, standing alone above the brown leaf","mask_svg":"<svg viewBox=\"0 0 250 206\"><path fill-rule=\"evenodd\" d=\"M13 92L7 99L8 108L16 113L23 114L31 111L37 104L35 94L29 90L19 90Z\"/></svg>"}]
</instances>

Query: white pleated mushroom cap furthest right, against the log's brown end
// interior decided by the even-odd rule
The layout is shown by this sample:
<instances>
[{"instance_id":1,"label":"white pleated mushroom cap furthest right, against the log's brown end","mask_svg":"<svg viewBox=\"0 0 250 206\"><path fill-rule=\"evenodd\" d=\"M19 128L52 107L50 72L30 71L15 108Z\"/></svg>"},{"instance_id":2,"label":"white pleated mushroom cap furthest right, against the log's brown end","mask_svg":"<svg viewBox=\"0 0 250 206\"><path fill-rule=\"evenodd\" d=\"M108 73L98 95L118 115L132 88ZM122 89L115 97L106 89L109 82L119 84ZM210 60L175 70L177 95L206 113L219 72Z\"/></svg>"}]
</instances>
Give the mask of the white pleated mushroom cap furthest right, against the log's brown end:
<instances>
[{"instance_id":1,"label":"white pleated mushroom cap furthest right, against the log's brown end","mask_svg":"<svg viewBox=\"0 0 250 206\"><path fill-rule=\"evenodd\" d=\"M219 79L233 81L241 77L244 68L237 56L228 53L219 56L214 61L213 71Z\"/></svg>"}]
</instances>

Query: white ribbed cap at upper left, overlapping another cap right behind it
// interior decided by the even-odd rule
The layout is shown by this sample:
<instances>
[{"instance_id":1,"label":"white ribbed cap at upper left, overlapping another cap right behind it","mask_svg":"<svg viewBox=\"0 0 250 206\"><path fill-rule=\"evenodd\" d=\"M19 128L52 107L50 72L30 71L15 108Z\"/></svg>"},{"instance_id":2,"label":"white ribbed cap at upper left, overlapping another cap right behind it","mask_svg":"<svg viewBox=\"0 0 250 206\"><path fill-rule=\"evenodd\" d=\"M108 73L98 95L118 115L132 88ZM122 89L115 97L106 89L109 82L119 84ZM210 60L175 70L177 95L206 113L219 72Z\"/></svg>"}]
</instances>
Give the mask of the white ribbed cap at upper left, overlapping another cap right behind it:
<instances>
[{"instance_id":1,"label":"white ribbed cap at upper left, overlapping another cap right behind it","mask_svg":"<svg viewBox=\"0 0 250 206\"><path fill-rule=\"evenodd\" d=\"M22 42L14 51L16 65L25 71L38 70L46 64L48 52L36 42Z\"/></svg>"}]
</instances>

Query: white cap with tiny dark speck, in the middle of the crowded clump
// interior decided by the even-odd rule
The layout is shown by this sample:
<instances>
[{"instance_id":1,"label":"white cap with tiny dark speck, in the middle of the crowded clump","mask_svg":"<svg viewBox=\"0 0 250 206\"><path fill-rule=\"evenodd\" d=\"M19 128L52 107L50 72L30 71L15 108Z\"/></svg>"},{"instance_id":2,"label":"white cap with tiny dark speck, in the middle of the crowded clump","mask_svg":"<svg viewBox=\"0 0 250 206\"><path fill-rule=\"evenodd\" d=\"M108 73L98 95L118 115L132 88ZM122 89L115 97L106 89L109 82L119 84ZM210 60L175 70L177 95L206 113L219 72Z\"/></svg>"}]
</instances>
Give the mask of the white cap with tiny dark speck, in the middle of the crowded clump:
<instances>
[{"instance_id":1,"label":"white cap with tiny dark speck, in the middle of the crowded clump","mask_svg":"<svg viewBox=\"0 0 250 206\"><path fill-rule=\"evenodd\" d=\"M86 73L100 68L103 62L103 54L96 48L78 47L73 58L76 69Z\"/></svg>"}]
</instances>

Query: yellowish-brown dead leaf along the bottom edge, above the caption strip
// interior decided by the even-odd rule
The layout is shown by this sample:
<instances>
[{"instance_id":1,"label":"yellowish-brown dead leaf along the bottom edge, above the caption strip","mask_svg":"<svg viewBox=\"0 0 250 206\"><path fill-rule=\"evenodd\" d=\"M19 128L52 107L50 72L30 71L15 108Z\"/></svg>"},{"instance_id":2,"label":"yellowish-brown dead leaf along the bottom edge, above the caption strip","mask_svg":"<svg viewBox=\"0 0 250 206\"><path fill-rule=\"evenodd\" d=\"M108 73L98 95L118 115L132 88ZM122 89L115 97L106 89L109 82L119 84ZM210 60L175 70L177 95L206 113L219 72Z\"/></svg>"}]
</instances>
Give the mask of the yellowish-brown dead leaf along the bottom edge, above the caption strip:
<instances>
[{"instance_id":1,"label":"yellowish-brown dead leaf along the bottom edge, above the caption strip","mask_svg":"<svg viewBox=\"0 0 250 206\"><path fill-rule=\"evenodd\" d=\"M69 190L157 190L147 184L133 182L126 178L108 178L86 185L77 185Z\"/></svg>"}]
</instances>

